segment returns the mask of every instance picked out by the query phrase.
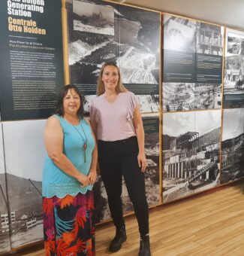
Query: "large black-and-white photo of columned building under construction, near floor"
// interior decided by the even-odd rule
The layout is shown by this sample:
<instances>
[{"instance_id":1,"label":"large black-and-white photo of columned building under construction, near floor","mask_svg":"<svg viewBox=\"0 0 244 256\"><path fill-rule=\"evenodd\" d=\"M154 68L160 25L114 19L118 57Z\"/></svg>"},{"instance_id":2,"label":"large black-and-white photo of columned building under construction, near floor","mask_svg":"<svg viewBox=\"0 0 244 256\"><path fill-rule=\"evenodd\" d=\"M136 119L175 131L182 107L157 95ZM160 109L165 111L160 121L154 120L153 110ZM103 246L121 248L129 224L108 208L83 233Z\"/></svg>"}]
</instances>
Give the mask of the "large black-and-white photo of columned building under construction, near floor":
<instances>
[{"instance_id":1,"label":"large black-and-white photo of columned building under construction, near floor","mask_svg":"<svg viewBox=\"0 0 244 256\"><path fill-rule=\"evenodd\" d=\"M163 203L216 187L221 111L163 114Z\"/></svg>"}]
</instances>

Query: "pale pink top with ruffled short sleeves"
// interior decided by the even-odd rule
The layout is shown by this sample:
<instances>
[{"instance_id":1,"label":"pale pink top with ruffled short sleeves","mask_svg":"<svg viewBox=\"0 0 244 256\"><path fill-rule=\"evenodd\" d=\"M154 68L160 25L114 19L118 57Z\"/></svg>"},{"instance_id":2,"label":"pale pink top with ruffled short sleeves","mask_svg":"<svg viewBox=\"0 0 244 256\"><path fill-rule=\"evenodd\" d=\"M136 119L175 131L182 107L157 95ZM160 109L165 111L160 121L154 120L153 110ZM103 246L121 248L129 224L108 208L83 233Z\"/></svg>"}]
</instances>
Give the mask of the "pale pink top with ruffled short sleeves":
<instances>
[{"instance_id":1,"label":"pale pink top with ruffled short sleeves","mask_svg":"<svg viewBox=\"0 0 244 256\"><path fill-rule=\"evenodd\" d=\"M96 97L90 105L90 119L98 127L98 139L114 142L136 136L133 125L134 109L139 105L134 93L119 93L110 103L104 94Z\"/></svg>"}]
</instances>

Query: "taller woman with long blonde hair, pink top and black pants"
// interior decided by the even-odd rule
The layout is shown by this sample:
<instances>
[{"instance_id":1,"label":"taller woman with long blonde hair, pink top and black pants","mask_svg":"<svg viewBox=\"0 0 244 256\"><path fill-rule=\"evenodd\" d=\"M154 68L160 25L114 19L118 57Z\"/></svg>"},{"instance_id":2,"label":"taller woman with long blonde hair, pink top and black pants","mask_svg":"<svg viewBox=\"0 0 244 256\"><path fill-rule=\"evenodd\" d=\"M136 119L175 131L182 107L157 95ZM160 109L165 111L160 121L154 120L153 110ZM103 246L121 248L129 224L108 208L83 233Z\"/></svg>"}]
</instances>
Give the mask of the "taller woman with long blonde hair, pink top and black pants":
<instances>
[{"instance_id":1,"label":"taller woman with long blonde hair, pink top and black pants","mask_svg":"<svg viewBox=\"0 0 244 256\"><path fill-rule=\"evenodd\" d=\"M98 77L98 97L90 106L90 118L98 139L98 163L107 191L116 236L109 250L119 251L127 239L122 213L122 176L140 231L140 256L150 255L149 210L144 172L144 130L140 105L134 93L122 84L118 66L104 64Z\"/></svg>"}]
</instances>

